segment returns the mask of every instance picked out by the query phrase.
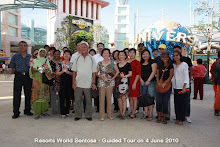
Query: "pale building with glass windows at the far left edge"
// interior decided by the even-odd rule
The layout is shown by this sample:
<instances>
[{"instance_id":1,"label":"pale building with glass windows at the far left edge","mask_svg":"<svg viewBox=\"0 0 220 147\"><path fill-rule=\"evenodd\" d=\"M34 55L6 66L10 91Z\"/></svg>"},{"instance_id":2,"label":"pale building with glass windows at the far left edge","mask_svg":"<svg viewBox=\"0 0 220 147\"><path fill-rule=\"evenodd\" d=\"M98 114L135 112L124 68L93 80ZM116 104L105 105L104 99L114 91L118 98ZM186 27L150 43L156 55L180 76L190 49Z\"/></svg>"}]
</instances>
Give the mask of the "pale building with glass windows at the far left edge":
<instances>
[{"instance_id":1,"label":"pale building with glass windows at the far left edge","mask_svg":"<svg viewBox=\"0 0 220 147\"><path fill-rule=\"evenodd\" d=\"M4 59L6 64L8 60L16 54L18 49L18 43L22 40L31 44L30 40L21 38L21 11L20 9L1 11L1 49L3 53L7 55ZM28 53L31 53L31 47L28 47Z\"/></svg>"}]
</instances>

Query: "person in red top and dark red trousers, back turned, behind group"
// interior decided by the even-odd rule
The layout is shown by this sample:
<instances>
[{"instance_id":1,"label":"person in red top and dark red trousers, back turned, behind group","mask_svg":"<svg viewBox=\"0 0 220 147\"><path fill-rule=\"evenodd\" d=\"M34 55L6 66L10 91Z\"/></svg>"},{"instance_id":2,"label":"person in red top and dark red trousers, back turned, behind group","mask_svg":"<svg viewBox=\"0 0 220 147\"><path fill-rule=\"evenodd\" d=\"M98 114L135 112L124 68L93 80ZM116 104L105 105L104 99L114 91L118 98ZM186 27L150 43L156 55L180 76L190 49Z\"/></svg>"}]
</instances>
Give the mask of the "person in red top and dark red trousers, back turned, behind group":
<instances>
[{"instance_id":1,"label":"person in red top and dark red trousers, back turned, behind group","mask_svg":"<svg viewBox=\"0 0 220 147\"><path fill-rule=\"evenodd\" d=\"M200 100L203 100L203 84L205 80L205 66L202 65L202 59L197 60L197 66L193 67L194 78L194 98L197 99L199 92Z\"/></svg>"}]
</instances>

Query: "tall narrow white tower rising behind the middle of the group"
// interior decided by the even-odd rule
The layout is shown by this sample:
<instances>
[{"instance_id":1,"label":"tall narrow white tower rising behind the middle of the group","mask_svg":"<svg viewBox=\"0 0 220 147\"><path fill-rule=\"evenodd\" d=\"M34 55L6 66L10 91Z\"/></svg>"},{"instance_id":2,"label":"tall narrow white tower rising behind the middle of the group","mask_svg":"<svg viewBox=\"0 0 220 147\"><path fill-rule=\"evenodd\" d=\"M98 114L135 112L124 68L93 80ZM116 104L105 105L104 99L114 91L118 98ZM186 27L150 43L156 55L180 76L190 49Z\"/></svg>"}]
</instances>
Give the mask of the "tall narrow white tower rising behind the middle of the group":
<instances>
[{"instance_id":1,"label":"tall narrow white tower rising behind the middle of the group","mask_svg":"<svg viewBox=\"0 0 220 147\"><path fill-rule=\"evenodd\" d=\"M116 0L115 6L115 48L122 50L123 42L129 42L129 6L127 1Z\"/></svg>"}]
</instances>

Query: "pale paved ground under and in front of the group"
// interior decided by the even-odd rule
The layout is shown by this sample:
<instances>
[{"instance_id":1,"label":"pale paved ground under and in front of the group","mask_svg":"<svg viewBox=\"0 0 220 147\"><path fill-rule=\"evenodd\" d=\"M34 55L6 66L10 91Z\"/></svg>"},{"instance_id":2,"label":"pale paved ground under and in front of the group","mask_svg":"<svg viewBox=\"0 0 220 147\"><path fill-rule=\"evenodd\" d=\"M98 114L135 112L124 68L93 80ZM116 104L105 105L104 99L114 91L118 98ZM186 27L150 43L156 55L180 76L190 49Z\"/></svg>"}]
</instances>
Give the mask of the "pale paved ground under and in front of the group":
<instances>
[{"instance_id":1,"label":"pale paved ground under and in front of the group","mask_svg":"<svg viewBox=\"0 0 220 147\"><path fill-rule=\"evenodd\" d=\"M183 126L174 124L173 95L171 120L167 125L141 120L142 112L133 120L108 120L101 122L98 113L93 121L86 119L62 120L59 115L51 115L35 120L33 116L21 116L13 120L12 90L13 77L0 76L0 146L193 146L217 147L220 144L220 117L213 115L212 85L205 85L204 100L191 100L192 123ZM5 81L5 82L3 82ZM20 111L23 112L22 101ZM154 111L154 115L156 112ZM67 143L58 143L60 139ZM80 140L81 139L81 140ZM151 140L158 143L151 143ZM42 142L42 143L40 143ZM43 143L47 142L47 143ZM78 143L77 143L78 142ZM80 143L87 142L87 143ZM90 143L88 143L90 142ZM96 142L96 143L91 143ZM108 142L108 143L105 143ZM112 143L111 143L112 142ZM159 143L163 142L163 143ZM169 143L172 142L172 143Z\"/></svg>"}]
</instances>

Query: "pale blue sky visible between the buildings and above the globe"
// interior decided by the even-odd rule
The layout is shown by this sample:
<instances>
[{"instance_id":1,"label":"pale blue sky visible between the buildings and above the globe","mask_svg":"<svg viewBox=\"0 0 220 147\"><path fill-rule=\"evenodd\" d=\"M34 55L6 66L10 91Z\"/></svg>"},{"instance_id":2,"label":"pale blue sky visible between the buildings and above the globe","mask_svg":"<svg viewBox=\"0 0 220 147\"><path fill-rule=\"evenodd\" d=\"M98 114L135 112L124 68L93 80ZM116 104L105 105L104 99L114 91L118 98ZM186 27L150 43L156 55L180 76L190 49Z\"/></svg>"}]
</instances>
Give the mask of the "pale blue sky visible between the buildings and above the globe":
<instances>
[{"instance_id":1,"label":"pale blue sky visible between the buildings and above the globe","mask_svg":"<svg viewBox=\"0 0 220 147\"><path fill-rule=\"evenodd\" d=\"M105 0L109 6L102 9L102 25L107 28L110 35L114 34L114 8L115 0ZM195 7L195 2L192 4ZM211 0L209 0L211 2ZM218 0L215 0L217 6ZM179 22L182 26L190 24L190 0L128 0L130 5L130 33L133 34L134 14L139 10L139 31L162 19L162 9L164 9L164 19ZM29 24L31 19L35 20L35 26L47 25L47 10L43 9L22 9L22 23Z\"/></svg>"}]
</instances>

